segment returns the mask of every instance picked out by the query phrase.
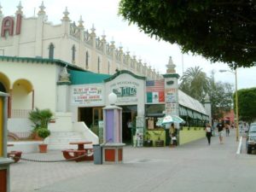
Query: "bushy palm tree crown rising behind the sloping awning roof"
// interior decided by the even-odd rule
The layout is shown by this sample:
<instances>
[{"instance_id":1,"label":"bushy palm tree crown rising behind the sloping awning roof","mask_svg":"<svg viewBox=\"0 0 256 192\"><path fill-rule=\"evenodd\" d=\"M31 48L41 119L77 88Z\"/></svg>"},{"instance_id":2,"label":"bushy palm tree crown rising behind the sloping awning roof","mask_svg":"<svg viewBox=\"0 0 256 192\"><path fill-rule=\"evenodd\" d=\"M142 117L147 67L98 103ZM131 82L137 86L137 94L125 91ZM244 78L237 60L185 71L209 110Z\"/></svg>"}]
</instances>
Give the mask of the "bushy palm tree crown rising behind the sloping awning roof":
<instances>
[{"instance_id":1,"label":"bushy palm tree crown rising behind the sloping awning roof","mask_svg":"<svg viewBox=\"0 0 256 192\"><path fill-rule=\"evenodd\" d=\"M203 101L210 87L210 79L198 66L189 67L181 78L180 90L196 100Z\"/></svg>"}]
</instances>

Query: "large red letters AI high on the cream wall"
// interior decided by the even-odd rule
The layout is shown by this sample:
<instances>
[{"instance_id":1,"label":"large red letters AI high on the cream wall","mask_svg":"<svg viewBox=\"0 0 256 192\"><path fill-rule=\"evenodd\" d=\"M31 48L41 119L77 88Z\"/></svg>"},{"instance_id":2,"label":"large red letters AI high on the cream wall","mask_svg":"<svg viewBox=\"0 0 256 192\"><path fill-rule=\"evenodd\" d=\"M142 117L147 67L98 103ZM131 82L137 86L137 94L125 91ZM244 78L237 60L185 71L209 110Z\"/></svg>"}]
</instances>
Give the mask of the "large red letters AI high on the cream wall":
<instances>
[{"instance_id":1,"label":"large red letters AI high on the cream wall","mask_svg":"<svg viewBox=\"0 0 256 192\"><path fill-rule=\"evenodd\" d=\"M20 14L17 14L16 17L16 28L15 28L15 20L11 16L7 16L3 18L2 21L2 28L1 28L1 37L5 37L6 32L9 32L9 36L19 35L20 29L21 29L21 18L22 16Z\"/></svg>"}]
</instances>

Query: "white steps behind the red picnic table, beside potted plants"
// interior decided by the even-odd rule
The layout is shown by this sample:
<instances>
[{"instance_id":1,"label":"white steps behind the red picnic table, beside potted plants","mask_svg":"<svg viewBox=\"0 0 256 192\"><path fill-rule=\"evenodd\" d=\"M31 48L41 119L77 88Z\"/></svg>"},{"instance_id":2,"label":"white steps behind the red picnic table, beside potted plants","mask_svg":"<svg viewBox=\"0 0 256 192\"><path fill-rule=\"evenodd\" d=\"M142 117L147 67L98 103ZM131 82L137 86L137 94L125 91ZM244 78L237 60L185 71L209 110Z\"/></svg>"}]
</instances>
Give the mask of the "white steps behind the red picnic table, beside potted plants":
<instances>
[{"instance_id":1,"label":"white steps behind the red picnic table, beside potted plants","mask_svg":"<svg viewBox=\"0 0 256 192\"><path fill-rule=\"evenodd\" d=\"M76 131L51 131L48 148L49 150L62 150L68 148L78 148L77 145L70 145L70 142L86 141L81 132Z\"/></svg>"}]
</instances>

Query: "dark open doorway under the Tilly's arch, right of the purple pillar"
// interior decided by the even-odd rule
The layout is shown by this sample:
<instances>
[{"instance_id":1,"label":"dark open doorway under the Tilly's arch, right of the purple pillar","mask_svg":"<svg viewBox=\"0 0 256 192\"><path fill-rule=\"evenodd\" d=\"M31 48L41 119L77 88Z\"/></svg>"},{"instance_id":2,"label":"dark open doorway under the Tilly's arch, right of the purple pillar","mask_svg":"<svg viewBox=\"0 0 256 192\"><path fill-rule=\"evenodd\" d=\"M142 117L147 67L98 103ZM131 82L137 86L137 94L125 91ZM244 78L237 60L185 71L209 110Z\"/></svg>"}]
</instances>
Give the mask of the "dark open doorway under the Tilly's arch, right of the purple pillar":
<instances>
[{"instance_id":1,"label":"dark open doorway under the Tilly's arch, right of the purple pillar","mask_svg":"<svg viewBox=\"0 0 256 192\"><path fill-rule=\"evenodd\" d=\"M123 108L123 143L129 145L132 143L132 135L135 134L136 130L137 105L119 107Z\"/></svg>"}]
</instances>

